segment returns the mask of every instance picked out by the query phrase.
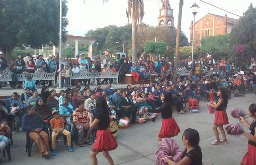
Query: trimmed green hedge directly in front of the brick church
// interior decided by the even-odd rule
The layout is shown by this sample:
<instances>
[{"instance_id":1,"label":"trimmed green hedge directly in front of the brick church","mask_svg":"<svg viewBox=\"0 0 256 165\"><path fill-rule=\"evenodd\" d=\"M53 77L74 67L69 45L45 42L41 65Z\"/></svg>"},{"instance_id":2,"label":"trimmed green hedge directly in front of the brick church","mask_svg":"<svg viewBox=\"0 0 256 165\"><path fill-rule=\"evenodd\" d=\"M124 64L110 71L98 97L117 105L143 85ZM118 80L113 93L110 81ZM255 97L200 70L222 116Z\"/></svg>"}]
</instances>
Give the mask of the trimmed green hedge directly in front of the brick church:
<instances>
[{"instance_id":1,"label":"trimmed green hedge directly in front of the brick church","mask_svg":"<svg viewBox=\"0 0 256 165\"><path fill-rule=\"evenodd\" d=\"M229 50L230 34L205 36L201 39L201 52L215 57L226 57Z\"/></svg>"}]
</instances>

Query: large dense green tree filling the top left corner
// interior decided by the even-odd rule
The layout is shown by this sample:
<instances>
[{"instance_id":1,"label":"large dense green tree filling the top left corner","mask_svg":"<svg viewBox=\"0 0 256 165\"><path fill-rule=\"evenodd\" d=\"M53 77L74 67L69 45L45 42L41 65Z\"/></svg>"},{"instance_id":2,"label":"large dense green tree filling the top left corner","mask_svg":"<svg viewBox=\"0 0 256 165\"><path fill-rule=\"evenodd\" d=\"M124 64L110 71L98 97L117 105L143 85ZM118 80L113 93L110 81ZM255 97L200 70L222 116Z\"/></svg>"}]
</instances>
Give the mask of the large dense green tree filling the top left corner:
<instances>
[{"instance_id":1,"label":"large dense green tree filling the top left corner","mask_svg":"<svg viewBox=\"0 0 256 165\"><path fill-rule=\"evenodd\" d=\"M62 5L62 35L67 33L67 1ZM0 50L10 61L16 46L58 46L59 0L1 0Z\"/></svg>"}]
</instances>

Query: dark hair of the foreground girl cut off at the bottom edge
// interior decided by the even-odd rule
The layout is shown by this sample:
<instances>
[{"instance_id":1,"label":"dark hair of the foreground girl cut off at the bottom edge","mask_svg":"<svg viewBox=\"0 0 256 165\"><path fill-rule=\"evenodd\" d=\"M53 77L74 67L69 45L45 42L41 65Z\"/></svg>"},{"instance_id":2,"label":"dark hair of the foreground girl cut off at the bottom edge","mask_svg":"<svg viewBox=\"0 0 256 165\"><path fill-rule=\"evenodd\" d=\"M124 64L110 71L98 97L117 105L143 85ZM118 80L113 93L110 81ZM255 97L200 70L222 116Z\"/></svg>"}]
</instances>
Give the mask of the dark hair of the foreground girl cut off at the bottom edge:
<instances>
[{"instance_id":1,"label":"dark hair of the foreground girl cut off at the bottom edge","mask_svg":"<svg viewBox=\"0 0 256 165\"><path fill-rule=\"evenodd\" d=\"M182 135L182 140L183 140L183 137L185 137L185 139L188 140L189 144L192 147L195 147L196 149L201 151L201 147L198 145L199 141L200 141L200 137L199 137L198 131L196 131L195 129L192 129L192 128L187 128L184 131L183 135ZM183 155L181 156L182 158L184 157L186 152L187 152L187 148L183 152Z\"/></svg>"}]
</instances>

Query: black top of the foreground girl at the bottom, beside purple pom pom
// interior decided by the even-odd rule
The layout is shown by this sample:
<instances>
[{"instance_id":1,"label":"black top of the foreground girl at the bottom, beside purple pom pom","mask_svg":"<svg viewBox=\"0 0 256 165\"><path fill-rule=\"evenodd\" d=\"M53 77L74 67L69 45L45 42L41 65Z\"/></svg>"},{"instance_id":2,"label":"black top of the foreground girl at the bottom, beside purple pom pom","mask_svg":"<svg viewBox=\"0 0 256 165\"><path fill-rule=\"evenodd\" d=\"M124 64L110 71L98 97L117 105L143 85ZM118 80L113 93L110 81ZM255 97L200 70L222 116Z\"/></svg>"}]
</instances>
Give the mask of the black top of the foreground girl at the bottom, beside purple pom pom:
<instances>
[{"instance_id":1,"label":"black top of the foreground girl at the bottom, beside purple pom pom","mask_svg":"<svg viewBox=\"0 0 256 165\"><path fill-rule=\"evenodd\" d=\"M183 154L181 159L183 159L185 156L189 157L189 159L192 160L192 164L190 164L190 165L203 165L203 162L202 162L203 155L202 155L201 149L194 148L191 151L189 151L188 153Z\"/></svg>"}]
</instances>

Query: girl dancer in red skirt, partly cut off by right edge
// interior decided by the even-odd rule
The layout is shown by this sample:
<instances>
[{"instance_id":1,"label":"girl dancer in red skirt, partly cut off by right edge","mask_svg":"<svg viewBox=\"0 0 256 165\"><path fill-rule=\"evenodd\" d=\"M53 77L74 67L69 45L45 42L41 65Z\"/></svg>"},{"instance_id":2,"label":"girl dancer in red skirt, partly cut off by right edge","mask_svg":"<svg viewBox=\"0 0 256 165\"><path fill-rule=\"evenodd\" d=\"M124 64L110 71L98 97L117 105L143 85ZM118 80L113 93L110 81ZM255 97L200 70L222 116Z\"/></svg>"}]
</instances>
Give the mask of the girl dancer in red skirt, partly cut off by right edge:
<instances>
[{"instance_id":1,"label":"girl dancer in red skirt, partly cut off by right edge","mask_svg":"<svg viewBox=\"0 0 256 165\"><path fill-rule=\"evenodd\" d=\"M240 121L249 128L250 134L243 132L242 134L249 139L248 151L242 159L241 165L256 165L256 104L251 104L248 108L248 116L253 118L253 122L249 124L243 117L239 117Z\"/></svg>"}]
</instances>

